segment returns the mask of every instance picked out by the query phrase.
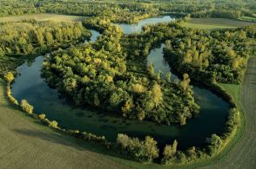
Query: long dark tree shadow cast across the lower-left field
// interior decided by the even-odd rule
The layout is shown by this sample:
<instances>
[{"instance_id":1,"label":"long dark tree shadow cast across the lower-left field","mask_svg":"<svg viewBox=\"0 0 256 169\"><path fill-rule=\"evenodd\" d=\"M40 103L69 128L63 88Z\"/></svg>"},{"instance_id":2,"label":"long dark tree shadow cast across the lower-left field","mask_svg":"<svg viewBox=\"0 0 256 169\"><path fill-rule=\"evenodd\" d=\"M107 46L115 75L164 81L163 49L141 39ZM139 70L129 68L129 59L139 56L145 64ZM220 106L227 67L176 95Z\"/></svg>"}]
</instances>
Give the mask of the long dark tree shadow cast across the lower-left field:
<instances>
[{"instance_id":1,"label":"long dark tree shadow cast across the lower-left field","mask_svg":"<svg viewBox=\"0 0 256 169\"><path fill-rule=\"evenodd\" d=\"M42 124L41 124L42 125ZM114 153L104 146L98 146L89 141L79 140L71 135L59 131L53 131L51 133L31 130L31 129L14 129L15 133L28 136L30 138L37 138L41 140L46 140L54 144L61 144L64 146L70 146L76 148L78 151L90 151L93 153L100 153L108 155L111 157L116 157L120 159L130 160L121 154Z\"/></svg>"}]
</instances>

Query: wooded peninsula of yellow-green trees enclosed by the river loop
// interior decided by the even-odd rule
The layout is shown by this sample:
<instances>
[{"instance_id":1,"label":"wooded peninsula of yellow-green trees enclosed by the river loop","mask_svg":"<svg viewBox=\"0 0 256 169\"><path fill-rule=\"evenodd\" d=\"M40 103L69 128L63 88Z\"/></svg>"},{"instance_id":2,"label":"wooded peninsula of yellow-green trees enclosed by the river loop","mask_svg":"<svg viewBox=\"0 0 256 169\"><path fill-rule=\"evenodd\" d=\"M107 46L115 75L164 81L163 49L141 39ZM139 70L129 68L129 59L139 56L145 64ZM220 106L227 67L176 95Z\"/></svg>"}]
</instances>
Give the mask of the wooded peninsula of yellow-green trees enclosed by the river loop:
<instances>
[{"instance_id":1,"label":"wooded peninsula of yellow-green trees enclosed by the river loop","mask_svg":"<svg viewBox=\"0 0 256 169\"><path fill-rule=\"evenodd\" d=\"M51 86L77 105L90 105L129 119L184 125L199 113L188 75L180 83L171 82L170 75L154 75L152 66L146 66L145 55L144 72L132 71L132 65L126 63L130 54L125 48L129 46L121 42L121 29L104 21L93 25L105 29L97 42L59 50L44 62L44 76Z\"/></svg>"}]
</instances>

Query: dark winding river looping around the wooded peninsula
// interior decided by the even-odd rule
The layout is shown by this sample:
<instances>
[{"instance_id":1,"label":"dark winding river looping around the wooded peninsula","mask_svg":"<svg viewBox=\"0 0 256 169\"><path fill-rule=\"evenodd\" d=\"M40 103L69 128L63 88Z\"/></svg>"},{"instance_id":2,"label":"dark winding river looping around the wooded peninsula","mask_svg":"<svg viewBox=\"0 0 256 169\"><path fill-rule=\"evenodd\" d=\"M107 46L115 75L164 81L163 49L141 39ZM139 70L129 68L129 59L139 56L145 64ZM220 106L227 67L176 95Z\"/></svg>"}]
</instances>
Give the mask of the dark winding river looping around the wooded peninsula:
<instances>
[{"instance_id":1,"label":"dark winding river looping around the wooded peninsula","mask_svg":"<svg viewBox=\"0 0 256 169\"><path fill-rule=\"evenodd\" d=\"M140 31L142 26L151 23L171 21L170 16L145 19L136 25L120 24L126 34ZM91 31L91 41L95 41L99 35L97 31ZM155 70L163 73L170 71L168 64L163 59L162 44L152 49L148 55L148 62L152 62ZM127 133L132 137L144 138L151 135L158 140L158 145L172 143L177 139L179 148L200 146L205 138L212 133L218 133L226 121L227 110L230 105L217 94L208 89L195 85L193 91L196 101L201 107L200 116L188 120L185 126L159 125L151 121L125 120L104 112L94 112L89 109L72 107L64 98L61 98L56 89L49 88L41 77L41 68L44 56L38 56L33 62L25 62L17 68L20 75L12 84L12 94L18 101L26 99L34 106L38 114L46 114L50 120L57 120L61 127L78 129L104 135L108 140L115 141L118 133ZM172 80L177 78L172 75Z\"/></svg>"}]
</instances>

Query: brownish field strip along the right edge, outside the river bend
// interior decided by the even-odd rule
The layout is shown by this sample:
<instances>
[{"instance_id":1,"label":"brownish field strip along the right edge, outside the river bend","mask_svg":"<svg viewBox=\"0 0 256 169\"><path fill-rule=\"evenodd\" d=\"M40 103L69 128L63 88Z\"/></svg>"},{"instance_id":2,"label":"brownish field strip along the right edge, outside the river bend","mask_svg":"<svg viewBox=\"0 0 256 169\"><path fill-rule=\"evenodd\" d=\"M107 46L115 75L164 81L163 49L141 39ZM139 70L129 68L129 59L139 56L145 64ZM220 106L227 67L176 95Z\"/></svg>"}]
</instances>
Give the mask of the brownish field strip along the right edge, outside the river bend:
<instances>
[{"instance_id":1,"label":"brownish field strip along the right edge, outside the river bend","mask_svg":"<svg viewBox=\"0 0 256 169\"><path fill-rule=\"evenodd\" d=\"M256 168L256 57L248 61L240 97L246 115L245 133L227 157L212 168Z\"/></svg>"}]
</instances>

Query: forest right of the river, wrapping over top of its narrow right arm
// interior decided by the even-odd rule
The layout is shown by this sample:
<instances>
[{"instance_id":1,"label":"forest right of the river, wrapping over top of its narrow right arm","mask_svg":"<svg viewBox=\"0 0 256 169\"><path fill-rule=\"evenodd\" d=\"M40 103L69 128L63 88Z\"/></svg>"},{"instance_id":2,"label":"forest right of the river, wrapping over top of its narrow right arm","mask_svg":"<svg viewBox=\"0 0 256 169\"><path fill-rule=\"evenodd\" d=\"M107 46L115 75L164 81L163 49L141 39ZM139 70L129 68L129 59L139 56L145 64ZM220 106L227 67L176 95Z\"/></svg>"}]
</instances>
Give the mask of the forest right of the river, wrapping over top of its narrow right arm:
<instances>
[{"instance_id":1,"label":"forest right of the river, wrapping over top of its narrow right arm","mask_svg":"<svg viewBox=\"0 0 256 169\"><path fill-rule=\"evenodd\" d=\"M141 35L125 36L123 44L128 46L125 49L130 54L128 63L148 55L155 44L165 42L165 60L180 75L188 73L193 79L205 82L240 83L247 59L255 54L256 26L187 29L182 26L184 22L145 26Z\"/></svg>"}]
</instances>

